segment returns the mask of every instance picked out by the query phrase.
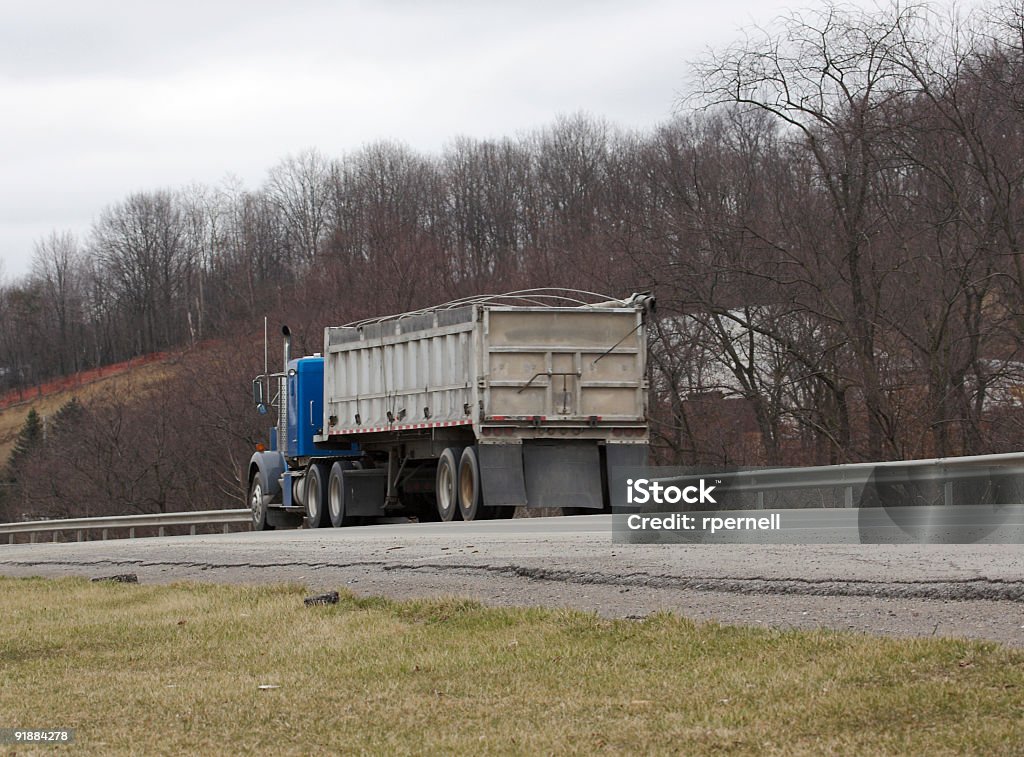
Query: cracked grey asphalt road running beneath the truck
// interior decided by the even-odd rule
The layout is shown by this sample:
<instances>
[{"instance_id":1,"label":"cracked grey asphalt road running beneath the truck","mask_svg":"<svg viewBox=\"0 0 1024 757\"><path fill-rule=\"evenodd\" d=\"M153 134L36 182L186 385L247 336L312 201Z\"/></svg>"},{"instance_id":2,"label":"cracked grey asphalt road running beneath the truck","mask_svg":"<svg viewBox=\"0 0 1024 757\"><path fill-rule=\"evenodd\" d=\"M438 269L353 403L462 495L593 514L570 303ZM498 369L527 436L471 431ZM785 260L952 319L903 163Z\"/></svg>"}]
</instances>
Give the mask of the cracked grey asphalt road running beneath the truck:
<instances>
[{"instance_id":1,"label":"cracked grey asphalt road running beneath the truck","mask_svg":"<svg viewBox=\"0 0 1024 757\"><path fill-rule=\"evenodd\" d=\"M1024 646L1020 545L614 544L608 515L0 545L0 575L118 573Z\"/></svg>"}]
</instances>

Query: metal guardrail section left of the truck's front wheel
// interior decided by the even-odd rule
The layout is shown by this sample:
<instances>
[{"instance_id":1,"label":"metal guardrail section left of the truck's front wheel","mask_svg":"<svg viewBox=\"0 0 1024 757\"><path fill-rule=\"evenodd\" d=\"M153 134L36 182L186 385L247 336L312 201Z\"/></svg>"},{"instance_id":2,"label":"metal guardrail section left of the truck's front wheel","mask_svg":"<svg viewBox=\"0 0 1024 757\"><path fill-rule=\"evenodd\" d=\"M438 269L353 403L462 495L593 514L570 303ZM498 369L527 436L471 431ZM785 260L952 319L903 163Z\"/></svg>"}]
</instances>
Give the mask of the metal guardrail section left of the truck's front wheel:
<instances>
[{"instance_id":1,"label":"metal guardrail section left of the truck's front wheel","mask_svg":"<svg viewBox=\"0 0 1024 757\"><path fill-rule=\"evenodd\" d=\"M228 533L231 523L251 523L252 511L239 510L198 510L195 512L160 512L152 515L112 515L104 517L68 518L65 520L27 520L19 523L0 523L0 541L7 536L7 543L14 544L17 534L28 534L30 543L36 543L38 534L53 534L53 541L63 532L75 532L76 541L85 541L88 532L100 532L105 540L112 530L128 530L128 538L135 538L135 530L158 529L158 536L166 536L169 525L188 525L188 533L196 535L197 525L223 524Z\"/></svg>"}]
</instances>

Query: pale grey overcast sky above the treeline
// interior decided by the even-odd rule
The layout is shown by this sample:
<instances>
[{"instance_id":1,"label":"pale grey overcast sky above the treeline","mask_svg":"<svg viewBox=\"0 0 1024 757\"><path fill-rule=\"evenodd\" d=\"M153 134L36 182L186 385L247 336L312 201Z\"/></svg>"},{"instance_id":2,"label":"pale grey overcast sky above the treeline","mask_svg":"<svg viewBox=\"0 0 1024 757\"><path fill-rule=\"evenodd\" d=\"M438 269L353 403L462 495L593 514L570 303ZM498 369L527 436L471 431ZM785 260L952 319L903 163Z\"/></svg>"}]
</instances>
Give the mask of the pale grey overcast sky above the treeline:
<instances>
[{"instance_id":1,"label":"pale grey overcast sky above the treeline","mask_svg":"<svg viewBox=\"0 0 1024 757\"><path fill-rule=\"evenodd\" d=\"M439 152L584 111L674 113L687 61L815 0L0 3L0 274L129 193L249 187L284 157Z\"/></svg>"}]
</instances>

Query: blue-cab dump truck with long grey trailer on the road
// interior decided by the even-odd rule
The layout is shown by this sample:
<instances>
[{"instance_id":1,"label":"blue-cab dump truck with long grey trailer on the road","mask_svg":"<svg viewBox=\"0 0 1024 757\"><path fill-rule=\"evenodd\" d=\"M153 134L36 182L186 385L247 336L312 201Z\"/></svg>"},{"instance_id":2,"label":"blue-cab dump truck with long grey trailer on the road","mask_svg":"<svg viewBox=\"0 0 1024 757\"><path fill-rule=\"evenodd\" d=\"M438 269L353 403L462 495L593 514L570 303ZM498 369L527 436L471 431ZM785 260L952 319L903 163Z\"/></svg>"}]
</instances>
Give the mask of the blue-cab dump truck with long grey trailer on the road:
<instances>
[{"instance_id":1,"label":"blue-cab dump truck with long grey trailer on the road","mask_svg":"<svg viewBox=\"0 0 1024 757\"><path fill-rule=\"evenodd\" d=\"M609 471L647 459L653 306L479 296L328 327L324 351L298 359L284 327L284 370L253 380L259 412L276 414L245 478L253 527L608 510Z\"/></svg>"}]
</instances>

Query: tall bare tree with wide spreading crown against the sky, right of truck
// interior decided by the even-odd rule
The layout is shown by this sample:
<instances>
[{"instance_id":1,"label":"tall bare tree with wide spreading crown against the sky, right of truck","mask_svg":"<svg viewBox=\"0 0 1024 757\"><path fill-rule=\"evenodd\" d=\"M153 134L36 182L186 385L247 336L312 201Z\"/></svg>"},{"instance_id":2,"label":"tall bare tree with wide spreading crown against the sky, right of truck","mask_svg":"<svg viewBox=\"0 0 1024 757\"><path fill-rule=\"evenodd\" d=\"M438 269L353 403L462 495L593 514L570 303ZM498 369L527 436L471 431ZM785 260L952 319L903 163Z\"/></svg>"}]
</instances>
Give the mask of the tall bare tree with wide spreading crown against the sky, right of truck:
<instances>
[{"instance_id":1,"label":"tall bare tree with wide spreading crown against the sky, right of truck","mask_svg":"<svg viewBox=\"0 0 1024 757\"><path fill-rule=\"evenodd\" d=\"M893 167L888 145L908 90L893 49L913 27L913 8L860 11L838 5L795 13L777 31L755 30L742 43L698 67L708 104L737 103L769 114L806 156L821 188L828 235L779 252L817 290L821 316L846 334L855 383L867 413L866 454L898 455L891 395L878 365L879 310L893 264L878 244L885 230L881 177ZM796 216L794 216L796 217Z\"/></svg>"}]
</instances>

